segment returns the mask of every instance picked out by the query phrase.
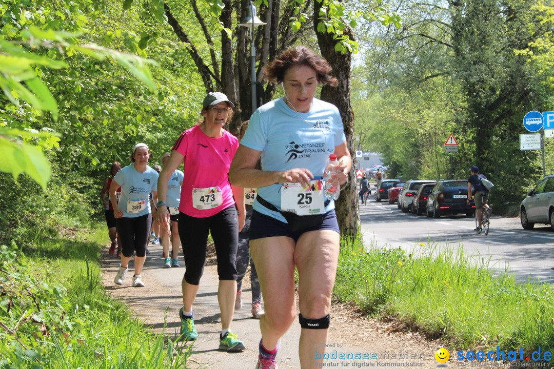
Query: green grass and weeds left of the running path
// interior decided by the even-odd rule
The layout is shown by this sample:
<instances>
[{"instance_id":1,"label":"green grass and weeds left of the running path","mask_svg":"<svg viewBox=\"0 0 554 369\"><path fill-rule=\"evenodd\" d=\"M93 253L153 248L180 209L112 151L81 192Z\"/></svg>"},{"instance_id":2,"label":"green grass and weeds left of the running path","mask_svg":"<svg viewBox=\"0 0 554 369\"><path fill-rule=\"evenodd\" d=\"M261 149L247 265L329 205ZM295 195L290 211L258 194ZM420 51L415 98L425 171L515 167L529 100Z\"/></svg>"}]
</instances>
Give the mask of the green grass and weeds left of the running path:
<instances>
[{"instance_id":1,"label":"green grass and weeds left of the running path","mask_svg":"<svg viewBox=\"0 0 554 369\"><path fill-rule=\"evenodd\" d=\"M191 346L152 334L106 294L100 237L66 230L0 246L0 368L186 368Z\"/></svg>"}]
</instances>

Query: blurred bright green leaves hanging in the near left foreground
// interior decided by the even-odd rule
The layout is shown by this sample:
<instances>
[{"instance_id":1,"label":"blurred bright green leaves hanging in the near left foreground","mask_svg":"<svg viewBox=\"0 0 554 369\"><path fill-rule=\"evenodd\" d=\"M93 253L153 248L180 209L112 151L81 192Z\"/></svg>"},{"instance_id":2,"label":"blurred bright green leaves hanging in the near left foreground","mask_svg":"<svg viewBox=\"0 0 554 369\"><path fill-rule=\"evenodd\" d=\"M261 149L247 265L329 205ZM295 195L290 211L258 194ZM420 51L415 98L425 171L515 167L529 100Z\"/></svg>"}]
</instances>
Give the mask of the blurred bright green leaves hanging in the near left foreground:
<instances>
[{"instance_id":1,"label":"blurred bright green leaves hanging in the near left foreground","mask_svg":"<svg viewBox=\"0 0 554 369\"><path fill-rule=\"evenodd\" d=\"M27 173L45 189L50 165L42 149L59 148L60 141L59 134L51 128L37 127L43 123L38 117L44 112L49 112L54 122L60 117L59 103L51 91L56 86L48 80L49 70L68 69L68 61L76 54L86 56L86 63L91 63L90 60L101 63L109 56L155 91L147 66L155 63L97 44L80 42L79 35L86 23L83 14L77 17L77 22L66 27L70 31L67 32L55 30L65 17L62 12L40 9L33 13L26 6L13 0L0 14L4 24L0 32L0 87L6 102L3 104L4 114L0 117L0 127L4 127L0 131L0 149L8 159L0 164L0 170L13 174L14 179L20 173ZM74 67L73 71L79 67ZM81 85L77 84L73 90L80 91L80 88ZM98 159L93 158L93 164L95 161L97 163Z\"/></svg>"}]
</instances>

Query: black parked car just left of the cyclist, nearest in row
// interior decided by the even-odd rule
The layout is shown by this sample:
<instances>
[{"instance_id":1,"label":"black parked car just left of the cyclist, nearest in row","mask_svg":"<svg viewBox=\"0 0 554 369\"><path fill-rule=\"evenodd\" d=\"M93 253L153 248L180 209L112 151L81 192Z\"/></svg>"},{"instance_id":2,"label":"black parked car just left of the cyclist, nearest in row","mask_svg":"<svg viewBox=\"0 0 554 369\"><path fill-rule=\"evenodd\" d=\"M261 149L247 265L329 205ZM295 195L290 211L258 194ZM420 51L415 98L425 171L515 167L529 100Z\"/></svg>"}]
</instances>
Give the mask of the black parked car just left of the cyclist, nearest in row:
<instances>
[{"instance_id":1,"label":"black parked car just left of the cyclist, nearest in row","mask_svg":"<svg viewBox=\"0 0 554 369\"><path fill-rule=\"evenodd\" d=\"M427 216L438 218L447 214L465 214L474 216L475 202L468 199L468 180L441 179L433 187L427 198Z\"/></svg>"}]
</instances>

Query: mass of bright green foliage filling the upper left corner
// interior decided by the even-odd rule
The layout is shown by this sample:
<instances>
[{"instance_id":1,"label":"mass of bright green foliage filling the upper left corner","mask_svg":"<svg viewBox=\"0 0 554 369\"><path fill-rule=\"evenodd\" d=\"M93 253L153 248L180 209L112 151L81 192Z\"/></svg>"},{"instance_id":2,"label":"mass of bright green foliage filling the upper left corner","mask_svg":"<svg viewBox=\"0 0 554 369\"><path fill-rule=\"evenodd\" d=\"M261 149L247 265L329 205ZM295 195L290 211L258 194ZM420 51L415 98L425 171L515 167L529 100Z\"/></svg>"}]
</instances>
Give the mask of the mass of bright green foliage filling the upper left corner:
<instances>
[{"instance_id":1,"label":"mass of bright green foliage filling the upper left corner","mask_svg":"<svg viewBox=\"0 0 554 369\"><path fill-rule=\"evenodd\" d=\"M52 216L71 225L99 214L109 164L129 163L140 141L155 163L196 121L190 100L204 93L184 48L163 35L145 43L140 14L119 4L11 0L0 21L0 171L17 179L1 174L6 241L32 237Z\"/></svg>"}]
</instances>

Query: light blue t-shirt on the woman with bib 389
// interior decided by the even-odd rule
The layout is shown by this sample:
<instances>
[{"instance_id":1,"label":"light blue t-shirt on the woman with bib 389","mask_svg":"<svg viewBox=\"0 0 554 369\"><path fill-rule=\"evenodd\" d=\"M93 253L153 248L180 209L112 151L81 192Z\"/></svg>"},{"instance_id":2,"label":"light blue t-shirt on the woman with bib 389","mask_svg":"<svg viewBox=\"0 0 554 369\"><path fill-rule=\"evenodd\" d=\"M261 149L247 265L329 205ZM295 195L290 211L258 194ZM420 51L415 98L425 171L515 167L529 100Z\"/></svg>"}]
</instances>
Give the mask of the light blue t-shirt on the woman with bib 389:
<instances>
[{"instance_id":1,"label":"light blue t-shirt on the woman with bib 389","mask_svg":"<svg viewBox=\"0 0 554 369\"><path fill-rule=\"evenodd\" d=\"M123 211L123 216L127 218L136 218L151 212L150 193L158 190L158 172L150 167L146 167L144 173L139 173L135 165L127 165L114 176L114 180L121 186L121 196L117 203L119 209ZM146 208L136 214L127 212L127 201L146 201Z\"/></svg>"}]
</instances>

